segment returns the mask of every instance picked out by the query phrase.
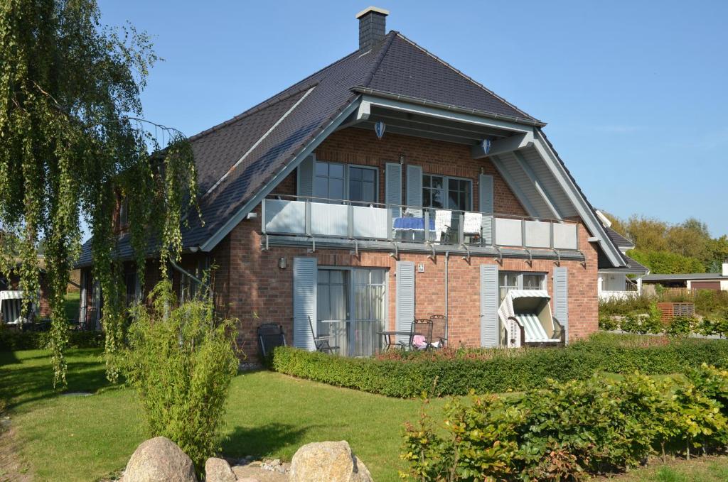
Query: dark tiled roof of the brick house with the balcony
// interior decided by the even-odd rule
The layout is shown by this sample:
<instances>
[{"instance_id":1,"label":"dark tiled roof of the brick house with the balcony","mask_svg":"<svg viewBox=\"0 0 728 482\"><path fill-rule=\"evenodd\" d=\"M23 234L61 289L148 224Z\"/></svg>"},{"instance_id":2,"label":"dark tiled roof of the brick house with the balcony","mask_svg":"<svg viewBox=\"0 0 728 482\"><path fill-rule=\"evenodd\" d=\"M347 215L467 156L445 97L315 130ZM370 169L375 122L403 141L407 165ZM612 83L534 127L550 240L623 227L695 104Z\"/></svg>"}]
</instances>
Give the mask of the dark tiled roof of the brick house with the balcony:
<instances>
[{"instance_id":1,"label":"dark tiled roof of the brick house with the balcony","mask_svg":"<svg viewBox=\"0 0 728 482\"><path fill-rule=\"evenodd\" d=\"M536 121L414 42L391 31L371 51L352 52L248 111L190 137L202 225L190 216L186 248L200 246L280 173L365 87L433 103ZM128 238L119 255L131 257ZM79 265L90 264L90 243Z\"/></svg>"}]
</instances>

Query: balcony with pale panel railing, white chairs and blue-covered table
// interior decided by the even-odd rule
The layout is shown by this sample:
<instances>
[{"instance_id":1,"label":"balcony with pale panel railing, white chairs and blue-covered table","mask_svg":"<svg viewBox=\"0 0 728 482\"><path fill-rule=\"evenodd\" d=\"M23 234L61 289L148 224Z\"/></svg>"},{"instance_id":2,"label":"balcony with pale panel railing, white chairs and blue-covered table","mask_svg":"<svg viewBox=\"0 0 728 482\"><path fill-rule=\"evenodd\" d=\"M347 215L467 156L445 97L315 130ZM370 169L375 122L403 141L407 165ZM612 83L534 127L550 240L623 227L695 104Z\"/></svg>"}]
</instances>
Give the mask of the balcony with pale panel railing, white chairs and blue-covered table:
<instances>
[{"instance_id":1,"label":"balcony with pale panel railing, white chairs and blue-covered table","mask_svg":"<svg viewBox=\"0 0 728 482\"><path fill-rule=\"evenodd\" d=\"M283 195L264 199L261 217L266 247L347 244L357 250L584 259L577 223L564 220Z\"/></svg>"}]
</instances>

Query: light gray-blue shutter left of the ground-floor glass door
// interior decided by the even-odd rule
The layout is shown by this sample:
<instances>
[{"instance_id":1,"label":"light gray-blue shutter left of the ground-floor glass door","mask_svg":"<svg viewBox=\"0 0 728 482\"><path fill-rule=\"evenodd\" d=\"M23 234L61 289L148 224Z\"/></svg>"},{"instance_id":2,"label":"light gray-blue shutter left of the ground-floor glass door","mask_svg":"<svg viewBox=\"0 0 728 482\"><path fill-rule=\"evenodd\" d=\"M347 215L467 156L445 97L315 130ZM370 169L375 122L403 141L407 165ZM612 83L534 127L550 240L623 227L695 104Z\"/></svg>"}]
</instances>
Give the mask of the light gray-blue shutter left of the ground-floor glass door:
<instances>
[{"instance_id":1,"label":"light gray-blue shutter left of the ground-floor glass door","mask_svg":"<svg viewBox=\"0 0 728 482\"><path fill-rule=\"evenodd\" d=\"M293 258L293 346L314 351L309 316L316 326L316 287L318 266L316 258Z\"/></svg>"}]
</instances>

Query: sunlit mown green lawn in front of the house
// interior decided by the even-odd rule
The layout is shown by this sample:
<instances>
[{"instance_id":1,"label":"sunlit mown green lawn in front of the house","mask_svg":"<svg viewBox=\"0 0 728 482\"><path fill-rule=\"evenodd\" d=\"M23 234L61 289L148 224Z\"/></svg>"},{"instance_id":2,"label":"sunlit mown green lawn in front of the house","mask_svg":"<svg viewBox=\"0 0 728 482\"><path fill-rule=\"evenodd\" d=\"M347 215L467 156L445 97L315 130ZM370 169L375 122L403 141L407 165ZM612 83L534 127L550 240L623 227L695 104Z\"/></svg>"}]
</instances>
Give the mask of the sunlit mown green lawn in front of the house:
<instances>
[{"instance_id":1,"label":"sunlit mown green lawn in front of the house","mask_svg":"<svg viewBox=\"0 0 728 482\"><path fill-rule=\"evenodd\" d=\"M0 352L0 398L33 480L94 481L124 467L146 438L135 394L105 382L100 350L71 350L68 365L68 392L92 395L54 393L47 352ZM396 481L402 424L420 407L269 371L241 374L232 382L223 453L290 460L304 443L346 440L376 481Z\"/></svg>"}]
</instances>

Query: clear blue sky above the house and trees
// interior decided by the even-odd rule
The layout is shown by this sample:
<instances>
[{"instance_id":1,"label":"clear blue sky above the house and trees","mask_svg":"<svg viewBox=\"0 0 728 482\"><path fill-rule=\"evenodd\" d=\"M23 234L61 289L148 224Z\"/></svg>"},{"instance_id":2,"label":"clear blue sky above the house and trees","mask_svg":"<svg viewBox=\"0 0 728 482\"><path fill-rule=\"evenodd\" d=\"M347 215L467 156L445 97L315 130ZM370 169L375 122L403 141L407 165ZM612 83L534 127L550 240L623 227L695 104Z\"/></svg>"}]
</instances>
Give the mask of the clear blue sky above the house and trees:
<instances>
[{"instance_id":1,"label":"clear blue sky above the house and trees","mask_svg":"<svg viewBox=\"0 0 728 482\"><path fill-rule=\"evenodd\" d=\"M595 206L728 233L727 1L377 1L388 30L546 121ZM165 59L146 118L191 135L355 50L371 0L99 4Z\"/></svg>"}]
</instances>

